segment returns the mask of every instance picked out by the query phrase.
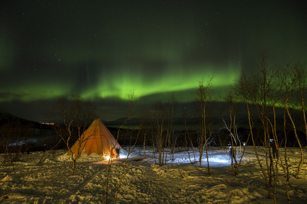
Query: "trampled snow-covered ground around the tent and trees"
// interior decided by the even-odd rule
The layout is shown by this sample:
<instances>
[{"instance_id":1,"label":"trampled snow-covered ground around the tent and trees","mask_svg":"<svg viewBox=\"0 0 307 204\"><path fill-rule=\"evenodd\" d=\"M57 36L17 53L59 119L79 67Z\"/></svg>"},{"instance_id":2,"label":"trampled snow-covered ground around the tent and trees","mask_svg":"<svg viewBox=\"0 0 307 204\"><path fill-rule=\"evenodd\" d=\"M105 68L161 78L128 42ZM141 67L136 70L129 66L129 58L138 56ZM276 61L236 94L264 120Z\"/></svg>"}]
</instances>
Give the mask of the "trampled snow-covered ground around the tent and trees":
<instances>
[{"instance_id":1,"label":"trampled snow-covered ground around the tent and trees","mask_svg":"<svg viewBox=\"0 0 307 204\"><path fill-rule=\"evenodd\" d=\"M117 196L118 203L274 203L267 198L262 172L253 147L247 147L239 174L233 176L227 149L210 149L211 176L207 176L207 160L203 157L202 168L191 164L186 151L177 152L174 161L158 166L150 148L143 159L142 147L135 148L129 159L127 172ZM305 161L307 148L303 149ZM106 183L107 160L91 154L77 161L74 176L69 176L72 163L64 156L64 150L54 151L42 164L34 161L42 152L25 155L17 169L0 168L0 203L103 203ZM283 156L283 153L281 152ZM196 160L197 160L196 155ZM291 203L307 201L307 166L301 168L301 179L293 176L300 161L298 148L288 148L290 168ZM108 203L114 202L115 189L125 155L113 160L108 191ZM259 157L266 167L264 152ZM2 157L0 157L1 159ZM239 161L239 159L238 159ZM277 201L287 203L285 177L279 169Z\"/></svg>"}]
</instances>

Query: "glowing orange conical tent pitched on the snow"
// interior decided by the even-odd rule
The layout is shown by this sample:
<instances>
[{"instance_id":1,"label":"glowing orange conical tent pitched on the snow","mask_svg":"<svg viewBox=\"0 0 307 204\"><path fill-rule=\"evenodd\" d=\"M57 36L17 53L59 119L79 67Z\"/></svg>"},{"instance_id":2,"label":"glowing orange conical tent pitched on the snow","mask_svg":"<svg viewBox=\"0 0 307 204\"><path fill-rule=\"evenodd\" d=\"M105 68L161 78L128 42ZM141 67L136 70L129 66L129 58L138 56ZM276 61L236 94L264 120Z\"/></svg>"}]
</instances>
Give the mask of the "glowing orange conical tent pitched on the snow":
<instances>
[{"instance_id":1,"label":"glowing orange conical tent pitched on the snow","mask_svg":"<svg viewBox=\"0 0 307 204\"><path fill-rule=\"evenodd\" d=\"M111 132L107 129L99 117L97 117L87 128L87 130L84 131L82 137L84 138L84 141L80 145L80 154L78 158L81 156L81 153L87 155L90 155L91 153L110 154L110 151L113 147L114 148L112 149L112 153L116 155L115 149L117 147L122 149L122 147L119 145L119 143L116 141L116 139L113 137ZM76 143L71 148L74 155L77 155L78 146L79 142L76 141ZM71 153L68 152L67 155L71 155Z\"/></svg>"}]
</instances>

